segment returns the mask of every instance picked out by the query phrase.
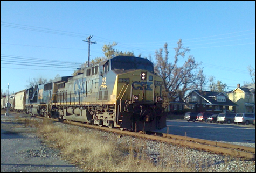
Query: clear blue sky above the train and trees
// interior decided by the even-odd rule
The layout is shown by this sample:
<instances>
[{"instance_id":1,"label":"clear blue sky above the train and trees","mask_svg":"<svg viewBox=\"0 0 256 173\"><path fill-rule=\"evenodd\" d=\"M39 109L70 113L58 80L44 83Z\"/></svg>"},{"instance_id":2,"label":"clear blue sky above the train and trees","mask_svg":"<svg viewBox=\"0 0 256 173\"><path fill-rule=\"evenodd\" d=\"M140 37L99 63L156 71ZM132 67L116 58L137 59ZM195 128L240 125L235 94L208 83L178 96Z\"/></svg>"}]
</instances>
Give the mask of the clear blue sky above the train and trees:
<instances>
[{"instance_id":1,"label":"clear blue sky above the train and trees","mask_svg":"<svg viewBox=\"0 0 256 173\"><path fill-rule=\"evenodd\" d=\"M115 41L116 50L155 61L167 42L173 62L182 39L191 49L186 57L202 62L206 77L215 76L228 90L251 82L247 66L255 68L255 2L1 1L1 88L10 83L10 93L18 92L29 79L70 76L88 60L82 40L89 35L96 42L91 60Z\"/></svg>"}]
</instances>

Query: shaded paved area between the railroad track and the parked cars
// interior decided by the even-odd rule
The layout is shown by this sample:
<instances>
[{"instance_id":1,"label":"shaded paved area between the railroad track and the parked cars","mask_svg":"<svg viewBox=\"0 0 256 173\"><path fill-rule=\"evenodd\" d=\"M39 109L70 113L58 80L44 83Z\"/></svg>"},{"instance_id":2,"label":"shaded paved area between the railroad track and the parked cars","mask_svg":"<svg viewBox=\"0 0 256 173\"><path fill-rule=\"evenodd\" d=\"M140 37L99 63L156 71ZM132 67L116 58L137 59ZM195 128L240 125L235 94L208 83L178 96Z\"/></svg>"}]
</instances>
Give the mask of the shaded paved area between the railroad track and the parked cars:
<instances>
[{"instance_id":1,"label":"shaded paved area between the railroad track and the parked cars","mask_svg":"<svg viewBox=\"0 0 256 173\"><path fill-rule=\"evenodd\" d=\"M188 136L213 141L255 143L254 125L217 124L206 122L188 122L185 120L167 120L162 133Z\"/></svg>"}]
</instances>

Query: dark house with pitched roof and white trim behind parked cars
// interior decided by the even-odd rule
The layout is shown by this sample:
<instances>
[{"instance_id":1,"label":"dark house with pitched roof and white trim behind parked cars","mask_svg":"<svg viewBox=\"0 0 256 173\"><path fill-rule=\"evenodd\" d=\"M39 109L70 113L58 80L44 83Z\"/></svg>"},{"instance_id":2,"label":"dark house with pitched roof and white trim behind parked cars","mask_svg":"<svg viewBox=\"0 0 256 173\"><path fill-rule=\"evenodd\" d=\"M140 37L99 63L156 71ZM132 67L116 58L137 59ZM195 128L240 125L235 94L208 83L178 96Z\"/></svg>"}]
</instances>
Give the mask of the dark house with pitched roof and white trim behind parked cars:
<instances>
[{"instance_id":1,"label":"dark house with pitched roof and white trim behind parked cars","mask_svg":"<svg viewBox=\"0 0 256 173\"><path fill-rule=\"evenodd\" d=\"M236 112L237 106L225 93L214 91L191 90L183 101L188 112Z\"/></svg>"}]
</instances>

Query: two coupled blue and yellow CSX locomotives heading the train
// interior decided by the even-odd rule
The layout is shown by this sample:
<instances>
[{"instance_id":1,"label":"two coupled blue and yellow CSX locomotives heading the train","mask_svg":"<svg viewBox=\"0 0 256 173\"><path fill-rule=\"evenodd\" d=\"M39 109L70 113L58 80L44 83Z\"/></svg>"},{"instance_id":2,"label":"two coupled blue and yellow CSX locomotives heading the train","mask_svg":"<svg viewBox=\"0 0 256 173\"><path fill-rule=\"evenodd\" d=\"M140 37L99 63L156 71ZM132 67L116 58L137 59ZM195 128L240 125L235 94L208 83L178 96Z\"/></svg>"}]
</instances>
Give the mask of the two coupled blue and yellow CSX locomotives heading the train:
<instances>
[{"instance_id":1,"label":"two coupled blue and yellow CSX locomotives heading the train","mask_svg":"<svg viewBox=\"0 0 256 173\"><path fill-rule=\"evenodd\" d=\"M130 131L166 127L163 80L147 59L116 56L26 89L24 112Z\"/></svg>"}]
</instances>

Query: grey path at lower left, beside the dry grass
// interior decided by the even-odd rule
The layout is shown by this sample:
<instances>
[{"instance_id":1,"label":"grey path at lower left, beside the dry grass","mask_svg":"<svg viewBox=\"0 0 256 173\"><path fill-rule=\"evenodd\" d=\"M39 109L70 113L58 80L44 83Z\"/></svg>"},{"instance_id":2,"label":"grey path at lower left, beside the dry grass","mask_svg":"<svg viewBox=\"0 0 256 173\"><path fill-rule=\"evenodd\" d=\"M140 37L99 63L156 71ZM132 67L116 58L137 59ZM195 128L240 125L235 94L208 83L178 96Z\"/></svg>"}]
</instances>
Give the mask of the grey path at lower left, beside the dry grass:
<instances>
[{"instance_id":1,"label":"grey path at lower left, beside the dry grass","mask_svg":"<svg viewBox=\"0 0 256 173\"><path fill-rule=\"evenodd\" d=\"M61 160L57 150L43 145L32 133L34 128L24 128L17 122L18 116L21 114L1 114L1 172L83 171Z\"/></svg>"}]
</instances>

